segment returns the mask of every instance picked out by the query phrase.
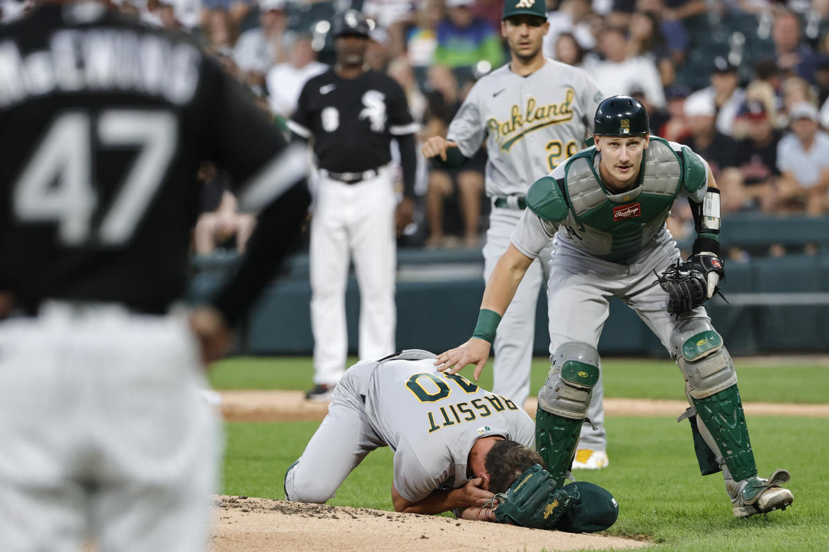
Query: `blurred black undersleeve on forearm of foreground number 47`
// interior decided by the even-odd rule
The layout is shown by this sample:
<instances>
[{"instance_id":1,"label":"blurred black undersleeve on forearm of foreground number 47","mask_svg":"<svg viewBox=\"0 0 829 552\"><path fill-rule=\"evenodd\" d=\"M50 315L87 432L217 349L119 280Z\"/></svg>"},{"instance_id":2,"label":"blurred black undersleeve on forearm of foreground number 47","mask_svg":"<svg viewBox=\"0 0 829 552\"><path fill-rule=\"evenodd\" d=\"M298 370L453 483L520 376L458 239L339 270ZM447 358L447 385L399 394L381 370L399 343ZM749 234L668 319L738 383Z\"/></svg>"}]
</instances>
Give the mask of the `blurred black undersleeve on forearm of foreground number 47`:
<instances>
[{"instance_id":1,"label":"blurred black undersleeve on forearm of foreground number 47","mask_svg":"<svg viewBox=\"0 0 829 552\"><path fill-rule=\"evenodd\" d=\"M211 301L230 327L250 309L291 252L310 203L308 185L302 180L259 214L239 269Z\"/></svg>"}]
</instances>

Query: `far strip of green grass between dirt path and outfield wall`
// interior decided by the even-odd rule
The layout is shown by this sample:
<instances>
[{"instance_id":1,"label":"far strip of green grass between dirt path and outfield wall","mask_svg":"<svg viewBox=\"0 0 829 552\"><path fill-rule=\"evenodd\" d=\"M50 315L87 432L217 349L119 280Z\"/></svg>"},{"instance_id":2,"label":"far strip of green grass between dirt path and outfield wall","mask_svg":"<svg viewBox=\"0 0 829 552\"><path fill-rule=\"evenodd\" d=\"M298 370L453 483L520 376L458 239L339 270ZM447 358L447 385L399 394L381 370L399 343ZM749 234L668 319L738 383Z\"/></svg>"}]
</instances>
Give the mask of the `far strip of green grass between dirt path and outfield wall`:
<instances>
[{"instance_id":1,"label":"far strip of green grass between dirt path and outfield wall","mask_svg":"<svg viewBox=\"0 0 829 552\"><path fill-rule=\"evenodd\" d=\"M356 362L351 359L350 362ZM604 395L647 399L685 399L682 377L676 364L667 360L618 360L602 362ZM472 377L473 367L463 374ZM546 358L532 364L531 389L534 394L547 376ZM743 401L799 402L821 404L829 401L829 367L786 362L781 366L737 361L740 394ZM210 373L216 389L293 389L308 390L313 368L307 357L230 358L216 362ZM492 388L492 362L484 370L481 385Z\"/></svg>"}]
</instances>

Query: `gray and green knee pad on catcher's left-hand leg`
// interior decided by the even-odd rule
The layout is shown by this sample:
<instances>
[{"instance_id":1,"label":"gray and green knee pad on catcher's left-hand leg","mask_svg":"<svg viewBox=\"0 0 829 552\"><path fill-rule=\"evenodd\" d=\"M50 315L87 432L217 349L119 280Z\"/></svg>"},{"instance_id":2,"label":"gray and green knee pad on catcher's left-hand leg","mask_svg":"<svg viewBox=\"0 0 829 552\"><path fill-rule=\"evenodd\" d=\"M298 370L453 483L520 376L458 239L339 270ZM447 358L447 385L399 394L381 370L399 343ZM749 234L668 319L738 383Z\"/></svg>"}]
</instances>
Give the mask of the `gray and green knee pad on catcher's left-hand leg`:
<instances>
[{"instance_id":1,"label":"gray and green knee pad on catcher's left-hand leg","mask_svg":"<svg viewBox=\"0 0 829 552\"><path fill-rule=\"evenodd\" d=\"M538 392L538 406L550 414L583 420L597 382L599 351L587 343L562 343L555 350L547 381Z\"/></svg>"}]
</instances>

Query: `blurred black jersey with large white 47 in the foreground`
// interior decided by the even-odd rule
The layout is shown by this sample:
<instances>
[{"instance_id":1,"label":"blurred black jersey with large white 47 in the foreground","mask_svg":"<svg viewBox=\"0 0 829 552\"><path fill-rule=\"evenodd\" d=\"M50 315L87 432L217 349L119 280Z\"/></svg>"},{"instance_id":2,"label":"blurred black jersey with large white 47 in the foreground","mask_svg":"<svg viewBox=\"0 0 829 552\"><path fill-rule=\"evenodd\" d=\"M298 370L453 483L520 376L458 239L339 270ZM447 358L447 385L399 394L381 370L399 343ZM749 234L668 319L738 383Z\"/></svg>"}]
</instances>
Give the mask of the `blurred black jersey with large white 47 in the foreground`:
<instances>
[{"instance_id":1,"label":"blurred black jersey with large white 47 in the foreground","mask_svg":"<svg viewBox=\"0 0 829 552\"><path fill-rule=\"evenodd\" d=\"M0 290L166 310L186 286L200 162L256 209L303 178L285 146L187 36L98 2L36 7L0 26Z\"/></svg>"}]
</instances>

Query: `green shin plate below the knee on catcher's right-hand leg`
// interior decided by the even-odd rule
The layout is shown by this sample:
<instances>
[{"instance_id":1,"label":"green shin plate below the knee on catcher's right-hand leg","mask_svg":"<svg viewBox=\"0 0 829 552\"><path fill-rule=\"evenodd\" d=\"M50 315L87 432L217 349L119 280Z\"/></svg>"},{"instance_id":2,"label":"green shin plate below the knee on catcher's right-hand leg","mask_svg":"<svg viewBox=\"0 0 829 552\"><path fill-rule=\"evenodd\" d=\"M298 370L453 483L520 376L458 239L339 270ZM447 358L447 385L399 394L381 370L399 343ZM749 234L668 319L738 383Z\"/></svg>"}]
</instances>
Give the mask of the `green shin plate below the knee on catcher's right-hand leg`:
<instances>
[{"instance_id":1,"label":"green shin plate below the knee on catcher's right-hand leg","mask_svg":"<svg viewBox=\"0 0 829 552\"><path fill-rule=\"evenodd\" d=\"M745 425L743 403L739 399L737 386L730 386L702 399L691 398L691 401L694 402L696 415L700 416L720 448L720 454L734 481L757 475L757 464L754 463L749 429Z\"/></svg>"}]
</instances>

